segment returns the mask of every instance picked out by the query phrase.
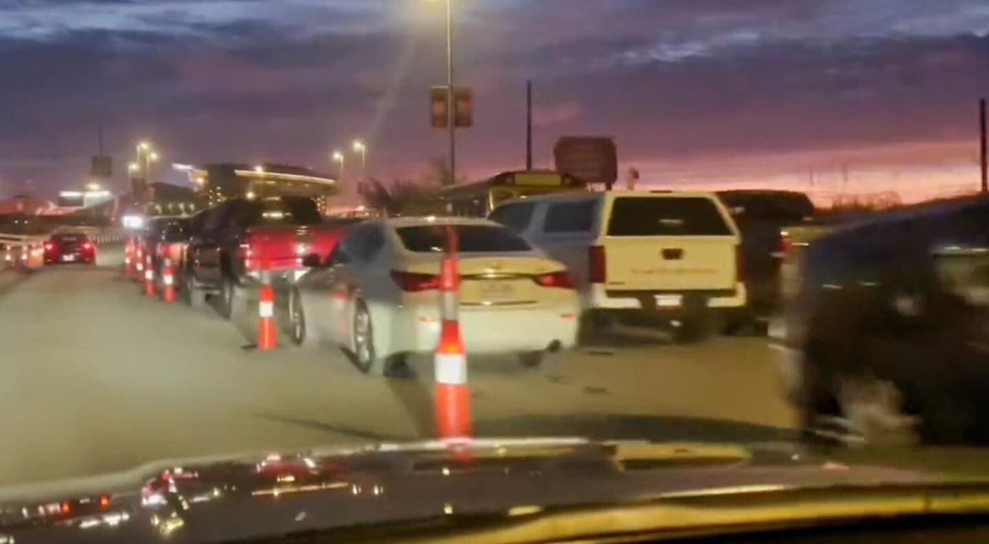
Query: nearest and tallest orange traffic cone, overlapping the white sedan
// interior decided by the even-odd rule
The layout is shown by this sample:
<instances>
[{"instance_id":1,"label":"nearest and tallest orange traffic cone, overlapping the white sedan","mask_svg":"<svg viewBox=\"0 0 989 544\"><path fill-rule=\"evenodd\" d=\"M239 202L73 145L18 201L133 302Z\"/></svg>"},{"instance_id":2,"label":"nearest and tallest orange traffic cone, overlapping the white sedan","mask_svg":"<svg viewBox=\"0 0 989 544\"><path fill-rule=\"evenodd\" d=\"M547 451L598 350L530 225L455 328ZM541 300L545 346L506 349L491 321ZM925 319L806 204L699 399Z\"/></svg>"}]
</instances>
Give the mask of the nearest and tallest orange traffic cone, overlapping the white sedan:
<instances>
[{"instance_id":1,"label":"nearest and tallest orange traffic cone, overlapping the white sedan","mask_svg":"<svg viewBox=\"0 0 989 544\"><path fill-rule=\"evenodd\" d=\"M467 351L457 319L460 273L452 228L448 227L447 236L449 245L439 275L442 328L433 359L433 403L436 434L443 440L456 440L471 436L471 390L467 384Z\"/></svg>"}]
</instances>

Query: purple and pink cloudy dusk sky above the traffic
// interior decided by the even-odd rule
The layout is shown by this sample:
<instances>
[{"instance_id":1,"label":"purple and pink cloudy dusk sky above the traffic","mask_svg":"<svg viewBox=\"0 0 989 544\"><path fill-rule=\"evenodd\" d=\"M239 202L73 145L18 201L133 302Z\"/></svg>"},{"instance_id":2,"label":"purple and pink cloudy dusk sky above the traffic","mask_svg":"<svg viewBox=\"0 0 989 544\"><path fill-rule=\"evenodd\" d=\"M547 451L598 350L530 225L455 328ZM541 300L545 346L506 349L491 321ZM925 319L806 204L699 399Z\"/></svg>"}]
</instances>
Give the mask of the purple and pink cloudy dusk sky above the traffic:
<instances>
[{"instance_id":1,"label":"purple and pink cloudy dusk sky above the traffic","mask_svg":"<svg viewBox=\"0 0 989 544\"><path fill-rule=\"evenodd\" d=\"M523 165L532 79L539 165L558 136L602 135L658 186L978 183L989 0L453 2L471 178ZM166 162L320 170L363 137L374 175L416 178L445 153L427 118L443 16L427 0L2 0L0 192L79 186L101 120L119 187L141 137Z\"/></svg>"}]
</instances>

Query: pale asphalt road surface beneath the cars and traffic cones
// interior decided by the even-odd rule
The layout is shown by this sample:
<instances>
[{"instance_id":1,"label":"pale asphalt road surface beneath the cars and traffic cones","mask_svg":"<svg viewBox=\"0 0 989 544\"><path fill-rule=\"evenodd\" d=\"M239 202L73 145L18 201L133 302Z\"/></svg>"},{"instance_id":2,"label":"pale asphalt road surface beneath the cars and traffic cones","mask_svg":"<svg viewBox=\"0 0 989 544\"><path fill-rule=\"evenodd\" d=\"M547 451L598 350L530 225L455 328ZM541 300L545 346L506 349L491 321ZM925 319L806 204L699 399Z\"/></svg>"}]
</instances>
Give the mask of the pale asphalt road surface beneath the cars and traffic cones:
<instances>
[{"instance_id":1,"label":"pale asphalt road surface beneath the cars and traffic cones","mask_svg":"<svg viewBox=\"0 0 989 544\"><path fill-rule=\"evenodd\" d=\"M209 308L165 305L141 296L119 263L119 251L103 248L95 267L0 278L0 486L160 459L431 436L427 357L412 362L412 377L384 379L360 374L331 346L245 349L249 302L233 323ZM759 338L620 338L538 369L471 358L475 430L770 439L793 422L773 371L779 356Z\"/></svg>"}]
</instances>

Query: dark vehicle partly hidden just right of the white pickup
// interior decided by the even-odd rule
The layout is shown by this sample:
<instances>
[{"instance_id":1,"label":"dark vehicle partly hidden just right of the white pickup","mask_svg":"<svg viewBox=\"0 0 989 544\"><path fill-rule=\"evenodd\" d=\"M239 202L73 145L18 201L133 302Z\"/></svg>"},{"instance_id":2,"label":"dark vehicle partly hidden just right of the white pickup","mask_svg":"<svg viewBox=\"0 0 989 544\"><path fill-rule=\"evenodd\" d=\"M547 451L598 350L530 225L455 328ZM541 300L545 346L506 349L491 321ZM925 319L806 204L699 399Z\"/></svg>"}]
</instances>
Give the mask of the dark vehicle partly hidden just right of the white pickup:
<instances>
[{"instance_id":1,"label":"dark vehicle partly hidden just right of the white pickup","mask_svg":"<svg viewBox=\"0 0 989 544\"><path fill-rule=\"evenodd\" d=\"M814 203L797 191L740 189L719 191L742 234L742 281L745 282L747 312L733 327L764 333L780 298L780 266L785 255L782 230L814 218Z\"/></svg>"}]
</instances>

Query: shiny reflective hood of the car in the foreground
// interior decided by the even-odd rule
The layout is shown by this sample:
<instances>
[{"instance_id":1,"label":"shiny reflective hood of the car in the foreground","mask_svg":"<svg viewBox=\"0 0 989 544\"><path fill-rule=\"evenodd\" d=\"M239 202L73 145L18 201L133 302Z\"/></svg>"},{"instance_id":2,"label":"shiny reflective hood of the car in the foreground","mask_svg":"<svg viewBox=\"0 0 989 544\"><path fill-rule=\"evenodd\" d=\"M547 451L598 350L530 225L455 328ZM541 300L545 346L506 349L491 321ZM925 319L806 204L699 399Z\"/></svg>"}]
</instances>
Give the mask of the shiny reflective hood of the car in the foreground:
<instances>
[{"instance_id":1,"label":"shiny reflective hood of the car in the foreground","mask_svg":"<svg viewBox=\"0 0 989 544\"><path fill-rule=\"evenodd\" d=\"M976 481L878 457L837 459L786 442L508 438L169 461L4 490L0 542L225 542L711 495Z\"/></svg>"}]
</instances>

